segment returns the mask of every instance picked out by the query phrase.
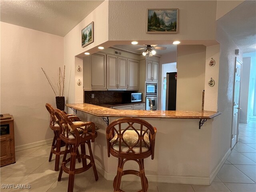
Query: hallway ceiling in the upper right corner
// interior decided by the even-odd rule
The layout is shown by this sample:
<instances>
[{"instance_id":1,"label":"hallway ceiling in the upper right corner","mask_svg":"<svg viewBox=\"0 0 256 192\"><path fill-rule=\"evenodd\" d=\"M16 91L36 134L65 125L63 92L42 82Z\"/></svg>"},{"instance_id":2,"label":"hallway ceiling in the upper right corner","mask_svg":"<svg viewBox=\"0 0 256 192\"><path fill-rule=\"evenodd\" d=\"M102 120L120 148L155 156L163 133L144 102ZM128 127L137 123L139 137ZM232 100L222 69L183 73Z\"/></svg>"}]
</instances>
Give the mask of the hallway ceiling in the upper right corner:
<instances>
[{"instance_id":1,"label":"hallway ceiling in the upper right corner","mask_svg":"<svg viewBox=\"0 0 256 192\"><path fill-rule=\"evenodd\" d=\"M218 20L243 53L256 52L256 1L246 0Z\"/></svg>"}]
</instances>

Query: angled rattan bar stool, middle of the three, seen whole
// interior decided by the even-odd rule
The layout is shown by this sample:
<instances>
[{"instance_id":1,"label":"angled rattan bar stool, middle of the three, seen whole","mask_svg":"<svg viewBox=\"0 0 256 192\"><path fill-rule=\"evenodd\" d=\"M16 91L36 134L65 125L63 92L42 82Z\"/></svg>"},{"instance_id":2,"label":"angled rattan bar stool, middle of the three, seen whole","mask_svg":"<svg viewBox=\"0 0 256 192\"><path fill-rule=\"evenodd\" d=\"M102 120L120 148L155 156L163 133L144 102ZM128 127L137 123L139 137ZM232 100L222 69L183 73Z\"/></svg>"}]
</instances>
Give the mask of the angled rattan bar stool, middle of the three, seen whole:
<instances>
[{"instance_id":1,"label":"angled rattan bar stool, middle of the three, seen whole","mask_svg":"<svg viewBox=\"0 0 256 192\"><path fill-rule=\"evenodd\" d=\"M66 143L58 181L61 180L63 171L68 173L68 192L73 192L75 174L82 173L92 167L95 180L98 180L98 173L91 147L91 141L94 142L98 135L95 131L95 124L93 122L71 122L71 120L58 109L54 111L54 114L58 118L61 128L60 139ZM90 155L86 155L85 144L88 146ZM81 147L81 154L80 156L77 156L79 146ZM66 159L69 152L71 157ZM76 168L76 158L78 157L82 158L82 168ZM90 160L88 164L86 159ZM70 162L69 167L66 166L68 162Z\"/></svg>"}]
</instances>

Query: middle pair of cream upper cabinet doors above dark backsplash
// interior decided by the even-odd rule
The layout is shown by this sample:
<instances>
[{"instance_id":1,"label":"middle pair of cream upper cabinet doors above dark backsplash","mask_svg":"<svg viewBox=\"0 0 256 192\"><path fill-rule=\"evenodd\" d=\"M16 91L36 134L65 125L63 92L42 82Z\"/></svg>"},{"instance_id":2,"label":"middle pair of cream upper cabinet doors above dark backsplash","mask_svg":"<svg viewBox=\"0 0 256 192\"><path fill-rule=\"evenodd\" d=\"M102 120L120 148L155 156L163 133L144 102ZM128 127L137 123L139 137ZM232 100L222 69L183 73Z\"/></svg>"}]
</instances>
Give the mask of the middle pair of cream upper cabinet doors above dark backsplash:
<instances>
[{"instance_id":1,"label":"middle pair of cream upper cabinet doors above dark backsplash","mask_svg":"<svg viewBox=\"0 0 256 192\"><path fill-rule=\"evenodd\" d=\"M127 59L107 55L107 89L127 88Z\"/></svg>"}]
</instances>

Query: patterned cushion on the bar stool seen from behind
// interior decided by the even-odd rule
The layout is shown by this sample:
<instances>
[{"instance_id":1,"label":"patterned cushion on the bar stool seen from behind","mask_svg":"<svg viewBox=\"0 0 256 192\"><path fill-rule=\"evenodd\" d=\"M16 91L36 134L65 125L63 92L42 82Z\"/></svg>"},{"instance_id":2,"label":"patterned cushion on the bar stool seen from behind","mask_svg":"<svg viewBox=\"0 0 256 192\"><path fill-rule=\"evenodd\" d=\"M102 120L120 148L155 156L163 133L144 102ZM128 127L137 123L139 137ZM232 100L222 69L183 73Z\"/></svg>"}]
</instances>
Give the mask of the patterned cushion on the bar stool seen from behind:
<instances>
[{"instance_id":1,"label":"patterned cushion on the bar stool seen from behind","mask_svg":"<svg viewBox=\"0 0 256 192\"><path fill-rule=\"evenodd\" d=\"M122 130L122 132L123 132L123 130ZM140 133L140 130L138 130L138 132ZM144 131L143 131L143 134L144 134ZM115 136L112 138L112 140L110 140L110 143L114 143L116 138L117 138L117 134L115 134ZM123 134L123 140L129 146L133 146L138 141L138 134L135 130L126 130ZM148 138L147 133L145 133L145 135L144 135L144 140L145 140L146 144L148 144L148 146L150 146L150 140ZM118 145L118 141L116 142L116 145ZM126 146L126 144L123 141L121 141L121 145ZM138 142L135 146L140 146L140 142ZM142 146L146 146L143 140L142 140Z\"/></svg>"}]
</instances>

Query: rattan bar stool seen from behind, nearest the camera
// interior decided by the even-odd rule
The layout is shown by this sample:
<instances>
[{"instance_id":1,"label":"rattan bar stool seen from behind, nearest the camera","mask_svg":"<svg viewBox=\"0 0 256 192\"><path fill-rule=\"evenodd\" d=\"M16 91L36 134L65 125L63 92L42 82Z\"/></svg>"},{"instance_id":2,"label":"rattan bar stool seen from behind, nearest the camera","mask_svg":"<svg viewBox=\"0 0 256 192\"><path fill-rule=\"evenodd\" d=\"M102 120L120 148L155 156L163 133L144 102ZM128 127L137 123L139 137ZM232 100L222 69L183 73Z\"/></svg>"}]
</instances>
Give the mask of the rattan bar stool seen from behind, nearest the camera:
<instances>
[{"instance_id":1,"label":"rattan bar stool seen from behind, nearest the camera","mask_svg":"<svg viewBox=\"0 0 256 192\"><path fill-rule=\"evenodd\" d=\"M120 189L123 175L133 174L140 177L142 192L148 191L148 180L144 170L144 158L154 159L156 128L138 118L120 118L111 122L106 129L108 157L118 158L117 174L114 178L114 192ZM140 170L123 170L124 164L133 160Z\"/></svg>"}]
</instances>

